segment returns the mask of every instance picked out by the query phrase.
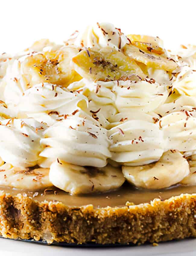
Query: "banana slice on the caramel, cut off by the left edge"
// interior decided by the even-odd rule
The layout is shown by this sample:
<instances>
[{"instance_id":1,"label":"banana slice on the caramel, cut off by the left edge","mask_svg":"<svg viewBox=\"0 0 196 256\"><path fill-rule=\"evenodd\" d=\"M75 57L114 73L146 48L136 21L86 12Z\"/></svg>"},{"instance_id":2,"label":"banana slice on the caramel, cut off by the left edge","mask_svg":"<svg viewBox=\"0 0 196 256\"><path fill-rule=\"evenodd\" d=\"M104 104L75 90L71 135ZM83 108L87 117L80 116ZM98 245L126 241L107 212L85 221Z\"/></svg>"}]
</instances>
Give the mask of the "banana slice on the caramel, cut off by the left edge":
<instances>
[{"instance_id":1,"label":"banana slice on the caramel, cut off by the left edge","mask_svg":"<svg viewBox=\"0 0 196 256\"><path fill-rule=\"evenodd\" d=\"M0 186L35 190L52 187L52 183L49 169L21 169L6 163L0 166Z\"/></svg>"}]
</instances>

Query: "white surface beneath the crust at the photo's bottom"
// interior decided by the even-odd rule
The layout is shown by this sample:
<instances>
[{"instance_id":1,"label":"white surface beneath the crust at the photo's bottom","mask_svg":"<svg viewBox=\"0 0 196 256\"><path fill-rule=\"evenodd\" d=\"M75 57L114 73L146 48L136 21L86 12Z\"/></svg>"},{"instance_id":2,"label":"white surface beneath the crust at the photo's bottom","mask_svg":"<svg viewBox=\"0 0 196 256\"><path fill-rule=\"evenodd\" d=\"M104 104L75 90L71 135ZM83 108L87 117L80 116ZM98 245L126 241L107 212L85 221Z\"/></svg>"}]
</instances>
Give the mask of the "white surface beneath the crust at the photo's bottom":
<instances>
[{"instance_id":1,"label":"white surface beneath the crust at the photo's bottom","mask_svg":"<svg viewBox=\"0 0 196 256\"><path fill-rule=\"evenodd\" d=\"M156 247L142 245L115 248L65 248L0 238L0 248L0 255L5 256L195 256L196 240L161 243Z\"/></svg>"}]
</instances>

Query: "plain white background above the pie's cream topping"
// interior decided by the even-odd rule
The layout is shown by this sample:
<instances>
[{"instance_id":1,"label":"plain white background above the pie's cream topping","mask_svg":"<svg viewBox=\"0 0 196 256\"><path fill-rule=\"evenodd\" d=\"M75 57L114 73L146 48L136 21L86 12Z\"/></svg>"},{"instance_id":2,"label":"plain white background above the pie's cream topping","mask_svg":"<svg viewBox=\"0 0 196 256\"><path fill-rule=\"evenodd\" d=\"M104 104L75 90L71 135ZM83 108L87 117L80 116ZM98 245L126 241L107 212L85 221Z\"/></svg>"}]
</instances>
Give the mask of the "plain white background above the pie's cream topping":
<instances>
[{"instance_id":1,"label":"plain white background above the pie's cream topping","mask_svg":"<svg viewBox=\"0 0 196 256\"><path fill-rule=\"evenodd\" d=\"M92 22L111 22L126 34L164 39L166 48L196 44L194 0L0 0L0 53L33 41L63 41Z\"/></svg>"}]
</instances>

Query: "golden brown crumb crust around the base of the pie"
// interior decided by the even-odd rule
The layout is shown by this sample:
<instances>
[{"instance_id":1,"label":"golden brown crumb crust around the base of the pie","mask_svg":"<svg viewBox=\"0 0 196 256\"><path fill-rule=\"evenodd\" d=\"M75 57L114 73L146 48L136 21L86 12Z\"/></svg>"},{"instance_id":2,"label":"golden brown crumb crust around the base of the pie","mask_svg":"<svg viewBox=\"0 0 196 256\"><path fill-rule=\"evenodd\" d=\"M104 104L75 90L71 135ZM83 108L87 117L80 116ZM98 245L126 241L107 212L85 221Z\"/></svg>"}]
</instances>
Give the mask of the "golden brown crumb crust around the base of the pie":
<instances>
[{"instance_id":1,"label":"golden brown crumb crust around the base of the pie","mask_svg":"<svg viewBox=\"0 0 196 256\"><path fill-rule=\"evenodd\" d=\"M0 234L48 243L144 243L196 237L196 194L122 208L68 207L0 194Z\"/></svg>"}]
</instances>

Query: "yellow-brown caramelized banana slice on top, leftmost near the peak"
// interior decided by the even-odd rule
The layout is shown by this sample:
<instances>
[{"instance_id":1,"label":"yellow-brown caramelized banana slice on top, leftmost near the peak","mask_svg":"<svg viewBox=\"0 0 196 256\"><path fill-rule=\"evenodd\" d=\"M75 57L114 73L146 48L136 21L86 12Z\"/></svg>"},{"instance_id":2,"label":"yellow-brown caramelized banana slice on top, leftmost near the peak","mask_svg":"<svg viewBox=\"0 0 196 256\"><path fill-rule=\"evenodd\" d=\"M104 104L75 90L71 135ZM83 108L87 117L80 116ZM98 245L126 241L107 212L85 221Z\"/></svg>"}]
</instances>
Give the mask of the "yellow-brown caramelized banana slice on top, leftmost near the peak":
<instances>
[{"instance_id":1,"label":"yellow-brown caramelized banana slice on top, leftmost near the peak","mask_svg":"<svg viewBox=\"0 0 196 256\"><path fill-rule=\"evenodd\" d=\"M72 57L77 53L78 49L73 46L65 46L58 51L36 53L26 57L21 62L21 67L31 85L49 82L68 86L81 79L70 66Z\"/></svg>"}]
</instances>

